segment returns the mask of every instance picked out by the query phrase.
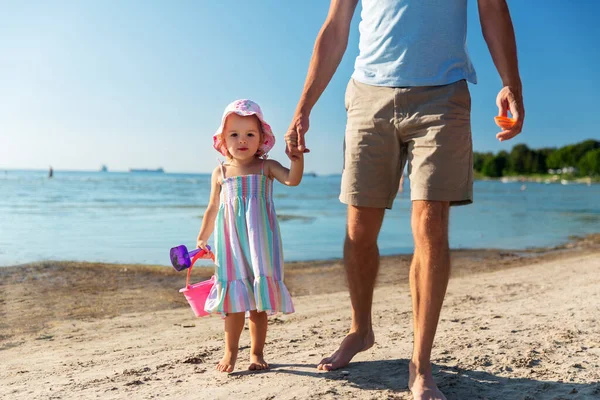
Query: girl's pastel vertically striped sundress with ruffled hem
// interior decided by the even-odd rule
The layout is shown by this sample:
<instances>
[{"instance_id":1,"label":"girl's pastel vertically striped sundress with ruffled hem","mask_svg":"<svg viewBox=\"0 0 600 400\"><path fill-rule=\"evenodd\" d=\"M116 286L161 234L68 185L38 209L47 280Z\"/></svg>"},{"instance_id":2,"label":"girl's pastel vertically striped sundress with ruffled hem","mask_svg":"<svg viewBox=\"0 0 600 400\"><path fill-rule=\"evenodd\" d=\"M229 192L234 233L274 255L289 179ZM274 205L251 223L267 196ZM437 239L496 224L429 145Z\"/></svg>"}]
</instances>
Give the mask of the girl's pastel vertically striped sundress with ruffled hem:
<instances>
[{"instance_id":1,"label":"girl's pastel vertically striped sundress with ruffled hem","mask_svg":"<svg viewBox=\"0 0 600 400\"><path fill-rule=\"evenodd\" d=\"M215 284L206 301L210 313L250 310L292 313L283 283L283 249L273 204L273 180L263 174L225 178L215 221Z\"/></svg>"}]
</instances>

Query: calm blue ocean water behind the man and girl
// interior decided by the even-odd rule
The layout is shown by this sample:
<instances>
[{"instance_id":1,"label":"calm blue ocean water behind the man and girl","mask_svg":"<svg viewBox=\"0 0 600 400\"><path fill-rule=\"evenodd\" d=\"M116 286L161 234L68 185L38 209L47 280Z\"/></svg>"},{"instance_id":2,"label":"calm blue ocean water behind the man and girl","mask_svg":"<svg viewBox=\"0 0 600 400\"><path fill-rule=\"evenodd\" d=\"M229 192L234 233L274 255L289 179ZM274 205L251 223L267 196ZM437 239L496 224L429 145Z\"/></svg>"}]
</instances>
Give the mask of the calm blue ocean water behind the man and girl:
<instances>
[{"instance_id":1,"label":"calm blue ocean water behind the man and girl","mask_svg":"<svg viewBox=\"0 0 600 400\"><path fill-rule=\"evenodd\" d=\"M526 249L600 232L600 185L475 183L475 203L454 207L452 248ZM275 184L287 261L339 258L346 208L340 176ZM523 190L524 189L524 190ZM170 265L169 249L194 247L208 174L0 171L0 266L42 260ZM386 212L382 254L409 253L410 192ZM212 243L212 238L209 241Z\"/></svg>"}]
</instances>

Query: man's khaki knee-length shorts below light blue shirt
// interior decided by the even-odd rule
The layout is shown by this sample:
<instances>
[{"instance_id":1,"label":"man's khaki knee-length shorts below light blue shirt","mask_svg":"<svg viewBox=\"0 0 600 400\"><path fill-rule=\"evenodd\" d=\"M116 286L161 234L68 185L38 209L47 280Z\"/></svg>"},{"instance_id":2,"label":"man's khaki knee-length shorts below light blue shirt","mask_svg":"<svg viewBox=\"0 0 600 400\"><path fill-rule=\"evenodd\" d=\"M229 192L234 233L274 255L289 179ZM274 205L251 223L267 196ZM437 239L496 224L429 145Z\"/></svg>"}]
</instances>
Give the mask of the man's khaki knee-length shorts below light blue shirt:
<instances>
[{"instance_id":1,"label":"man's khaki knee-length shorts below light blue shirt","mask_svg":"<svg viewBox=\"0 0 600 400\"><path fill-rule=\"evenodd\" d=\"M473 202L471 96L462 80L393 88L350 79L340 201L392 208L408 163L411 200Z\"/></svg>"}]
</instances>

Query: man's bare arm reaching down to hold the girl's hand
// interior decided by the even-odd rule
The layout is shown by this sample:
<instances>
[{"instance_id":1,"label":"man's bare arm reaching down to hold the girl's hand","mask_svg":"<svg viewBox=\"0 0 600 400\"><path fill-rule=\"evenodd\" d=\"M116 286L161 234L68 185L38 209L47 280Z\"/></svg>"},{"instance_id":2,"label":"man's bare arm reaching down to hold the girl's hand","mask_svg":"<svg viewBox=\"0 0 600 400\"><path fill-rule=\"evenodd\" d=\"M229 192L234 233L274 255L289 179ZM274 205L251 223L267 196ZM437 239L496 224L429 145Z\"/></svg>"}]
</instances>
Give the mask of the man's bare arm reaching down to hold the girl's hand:
<instances>
[{"instance_id":1,"label":"man's bare arm reaching down to hold the girl's hand","mask_svg":"<svg viewBox=\"0 0 600 400\"><path fill-rule=\"evenodd\" d=\"M315 41L302 95L296 106L290 129L298 133L298 146L286 148L288 155L305 152L304 134L313 107L331 81L348 46L350 22L358 0L331 0L327 19Z\"/></svg>"}]
</instances>

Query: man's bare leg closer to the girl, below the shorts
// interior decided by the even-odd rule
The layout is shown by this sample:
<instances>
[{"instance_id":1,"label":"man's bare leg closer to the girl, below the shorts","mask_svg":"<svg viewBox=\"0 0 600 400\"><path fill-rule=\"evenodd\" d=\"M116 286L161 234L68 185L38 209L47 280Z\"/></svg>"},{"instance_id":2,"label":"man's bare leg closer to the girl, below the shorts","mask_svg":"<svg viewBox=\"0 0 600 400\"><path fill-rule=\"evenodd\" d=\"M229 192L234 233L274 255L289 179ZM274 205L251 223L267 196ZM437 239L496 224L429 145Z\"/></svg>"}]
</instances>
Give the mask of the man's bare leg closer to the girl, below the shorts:
<instances>
[{"instance_id":1,"label":"man's bare leg closer to the girl, below the shorts","mask_svg":"<svg viewBox=\"0 0 600 400\"><path fill-rule=\"evenodd\" d=\"M384 208L348 206L344 266L352 303L352 325L337 351L321 360L317 367L320 370L345 367L357 353L371 348L375 342L371 305L379 270L377 236L384 213Z\"/></svg>"}]
</instances>

